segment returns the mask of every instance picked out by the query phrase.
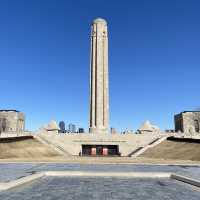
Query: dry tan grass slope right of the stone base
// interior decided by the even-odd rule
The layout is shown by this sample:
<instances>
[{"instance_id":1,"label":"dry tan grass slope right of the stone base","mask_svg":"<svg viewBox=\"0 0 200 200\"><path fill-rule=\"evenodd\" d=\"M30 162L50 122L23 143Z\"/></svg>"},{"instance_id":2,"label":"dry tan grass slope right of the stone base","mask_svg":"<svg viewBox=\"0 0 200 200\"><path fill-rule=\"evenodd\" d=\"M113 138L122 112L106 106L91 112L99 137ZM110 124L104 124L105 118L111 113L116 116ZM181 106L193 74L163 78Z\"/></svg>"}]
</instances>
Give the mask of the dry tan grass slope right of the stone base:
<instances>
[{"instance_id":1,"label":"dry tan grass slope right of the stone base","mask_svg":"<svg viewBox=\"0 0 200 200\"><path fill-rule=\"evenodd\" d=\"M200 143L165 140L147 149L141 157L200 161Z\"/></svg>"}]
</instances>

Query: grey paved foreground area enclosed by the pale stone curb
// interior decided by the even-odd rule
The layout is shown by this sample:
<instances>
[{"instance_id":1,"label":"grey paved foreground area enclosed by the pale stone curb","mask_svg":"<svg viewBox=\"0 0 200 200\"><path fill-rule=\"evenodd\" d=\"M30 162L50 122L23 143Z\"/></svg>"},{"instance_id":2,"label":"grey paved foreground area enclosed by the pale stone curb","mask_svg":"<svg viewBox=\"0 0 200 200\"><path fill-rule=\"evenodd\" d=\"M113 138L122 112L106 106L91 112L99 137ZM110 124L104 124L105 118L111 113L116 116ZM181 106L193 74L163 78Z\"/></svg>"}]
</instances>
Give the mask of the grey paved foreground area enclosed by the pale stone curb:
<instances>
[{"instance_id":1,"label":"grey paved foreground area enclosed by the pale stone curb","mask_svg":"<svg viewBox=\"0 0 200 200\"><path fill-rule=\"evenodd\" d=\"M21 199L154 199L197 200L196 187L169 179L45 177L0 193L4 200Z\"/></svg>"}]
</instances>

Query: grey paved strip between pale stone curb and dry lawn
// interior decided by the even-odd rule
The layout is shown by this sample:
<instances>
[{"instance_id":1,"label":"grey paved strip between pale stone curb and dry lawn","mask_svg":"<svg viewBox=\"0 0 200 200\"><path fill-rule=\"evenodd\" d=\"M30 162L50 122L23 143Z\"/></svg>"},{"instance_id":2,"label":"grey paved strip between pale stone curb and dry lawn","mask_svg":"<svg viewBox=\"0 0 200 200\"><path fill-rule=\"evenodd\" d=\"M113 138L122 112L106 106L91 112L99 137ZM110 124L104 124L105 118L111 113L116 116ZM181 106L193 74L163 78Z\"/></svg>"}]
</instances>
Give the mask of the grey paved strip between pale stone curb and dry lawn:
<instances>
[{"instance_id":1,"label":"grey paved strip between pale stone curb and dry lawn","mask_svg":"<svg viewBox=\"0 0 200 200\"><path fill-rule=\"evenodd\" d=\"M132 165L132 164L0 164L0 182L19 179L43 171L98 171L98 172L170 172L200 180L200 166Z\"/></svg>"}]
</instances>

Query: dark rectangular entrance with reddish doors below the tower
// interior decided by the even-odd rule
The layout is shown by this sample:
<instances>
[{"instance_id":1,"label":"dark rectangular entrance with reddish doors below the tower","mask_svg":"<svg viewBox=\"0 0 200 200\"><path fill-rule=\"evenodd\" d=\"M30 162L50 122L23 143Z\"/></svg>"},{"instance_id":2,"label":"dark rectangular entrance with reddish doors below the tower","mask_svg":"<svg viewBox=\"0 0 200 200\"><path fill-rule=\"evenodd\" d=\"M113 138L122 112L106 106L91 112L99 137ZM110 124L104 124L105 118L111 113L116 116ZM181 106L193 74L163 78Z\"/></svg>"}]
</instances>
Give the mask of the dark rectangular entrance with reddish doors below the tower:
<instances>
[{"instance_id":1,"label":"dark rectangular entrance with reddish doors below the tower","mask_svg":"<svg viewBox=\"0 0 200 200\"><path fill-rule=\"evenodd\" d=\"M82 145L82 156L120 156L118 145Z\"/></svg>"}]
</instances>

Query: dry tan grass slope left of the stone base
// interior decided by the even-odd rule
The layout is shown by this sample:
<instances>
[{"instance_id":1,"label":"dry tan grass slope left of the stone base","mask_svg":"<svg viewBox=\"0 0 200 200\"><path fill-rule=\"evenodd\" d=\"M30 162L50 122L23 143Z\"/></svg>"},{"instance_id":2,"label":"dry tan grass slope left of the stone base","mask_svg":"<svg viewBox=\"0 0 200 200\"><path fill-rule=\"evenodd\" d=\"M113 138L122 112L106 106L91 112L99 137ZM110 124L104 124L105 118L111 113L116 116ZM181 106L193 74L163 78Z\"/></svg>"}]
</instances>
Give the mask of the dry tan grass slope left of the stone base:
<instances>
[{"instance_id":1,"label":"dry tan grass slope left of the stone base","mask_svg":"<svg viewBox=\"0 0 200 200\"><path fill-rule=\"evenodd\" d=\"M0 140L0 159L52 156L59 156L59 154L34 138Z\"/></svg>"}]
</instances>

